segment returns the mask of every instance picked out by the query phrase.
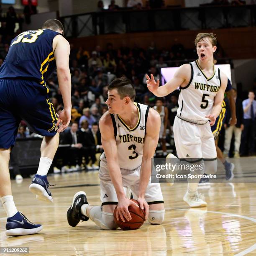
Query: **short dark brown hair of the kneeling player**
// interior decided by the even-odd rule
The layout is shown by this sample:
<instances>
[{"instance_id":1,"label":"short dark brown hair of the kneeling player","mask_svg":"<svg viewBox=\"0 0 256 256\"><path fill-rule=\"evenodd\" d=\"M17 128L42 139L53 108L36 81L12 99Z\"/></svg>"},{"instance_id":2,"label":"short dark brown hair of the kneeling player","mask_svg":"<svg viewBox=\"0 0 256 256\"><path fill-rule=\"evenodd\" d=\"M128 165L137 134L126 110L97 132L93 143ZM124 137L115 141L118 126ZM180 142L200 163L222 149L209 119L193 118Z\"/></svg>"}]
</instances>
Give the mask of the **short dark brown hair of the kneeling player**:
<instances>
[{"instance_id":1,"label":"short dark brown hair of the kneeling player","mask_svg":"<svg viewBox=\"0 0 256 256\"><path fill-rule=\"evenodd\" d=\"M117 89L121 100L128 96L132 101L134 101L136 93L133 84L127 77L120 77L114 79L108 86L108 90Z\"/></svg>"}]
</instances>

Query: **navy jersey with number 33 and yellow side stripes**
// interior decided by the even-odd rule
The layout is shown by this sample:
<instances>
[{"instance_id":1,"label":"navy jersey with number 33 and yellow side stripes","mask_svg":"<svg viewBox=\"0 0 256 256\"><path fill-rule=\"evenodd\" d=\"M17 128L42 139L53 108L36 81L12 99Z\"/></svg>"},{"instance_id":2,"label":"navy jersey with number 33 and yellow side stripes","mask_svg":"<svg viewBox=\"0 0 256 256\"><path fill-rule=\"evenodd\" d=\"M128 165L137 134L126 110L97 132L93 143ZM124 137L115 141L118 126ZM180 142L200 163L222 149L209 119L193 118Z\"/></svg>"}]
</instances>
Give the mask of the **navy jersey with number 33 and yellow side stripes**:
<instances>
[{"instance_id":1,"label":"navy jersey with number 33 and yellow side stripes","mask_svg":"<svg viewBox=\"0 0 256 256\"><path fill-rule=\"evenodd\" d=\"M56 69L52 41L59 34L51 29L38 29L16 36L0 68L0 79L28 79L46 86L46 80Z\"/></svg>"}]
</instances>

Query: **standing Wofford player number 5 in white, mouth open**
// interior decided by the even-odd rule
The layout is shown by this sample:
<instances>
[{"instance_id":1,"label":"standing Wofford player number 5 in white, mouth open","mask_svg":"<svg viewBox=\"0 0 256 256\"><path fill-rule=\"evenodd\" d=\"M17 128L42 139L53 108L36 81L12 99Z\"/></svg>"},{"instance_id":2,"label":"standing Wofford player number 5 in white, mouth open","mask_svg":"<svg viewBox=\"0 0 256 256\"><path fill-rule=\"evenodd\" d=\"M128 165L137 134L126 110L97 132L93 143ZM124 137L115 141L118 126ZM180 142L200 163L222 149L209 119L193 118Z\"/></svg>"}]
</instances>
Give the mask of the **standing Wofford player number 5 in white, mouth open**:
<instances>
[{"instance_id":1,"label":"standing Wofford player number 5 in white, mouth open","mask_svg":"<svg viewBox=\"0 0 256 256\"><path fill-rule=\"evenodd\" d=\"M211 125L220 114L228 78L220 69L215 70L213 53L217 39L213 33L199 33L195 38L198 59L184 64L174 77L159 87L159 80L146 75L148 89L157 97L173 92L179 86L179 109L174 120L174 141L179 159L205 159L204 172L217 171L217 153ZM209 122L210 120L210 122ZM206 166L205 166L206 167ZM207 203L198 194L198 180L188 183L183 200L190 207L202 207Z\"/></svg>"}]
</instances>

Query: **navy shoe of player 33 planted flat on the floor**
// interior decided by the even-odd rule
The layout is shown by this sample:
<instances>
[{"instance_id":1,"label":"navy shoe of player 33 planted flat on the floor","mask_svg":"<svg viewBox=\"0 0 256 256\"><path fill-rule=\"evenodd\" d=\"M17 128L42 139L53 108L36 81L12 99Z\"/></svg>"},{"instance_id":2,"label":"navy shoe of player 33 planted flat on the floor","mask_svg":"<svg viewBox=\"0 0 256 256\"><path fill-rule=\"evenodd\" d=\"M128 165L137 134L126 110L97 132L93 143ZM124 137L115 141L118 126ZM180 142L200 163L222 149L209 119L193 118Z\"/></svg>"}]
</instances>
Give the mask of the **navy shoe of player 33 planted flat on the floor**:
<instances>
[{"instance_id":1,"label":"navy shoe of player 33 planted flat on the floor","mask_svg":"<svg viewBox=\"0 0 256 256\"><path fill-rule=\"evenodd\" d=\"M30 222L21 212L17 212L13 217L7 218L6 236L32 235L43 229L41 224Z\"/></svg>"}]
</instances>

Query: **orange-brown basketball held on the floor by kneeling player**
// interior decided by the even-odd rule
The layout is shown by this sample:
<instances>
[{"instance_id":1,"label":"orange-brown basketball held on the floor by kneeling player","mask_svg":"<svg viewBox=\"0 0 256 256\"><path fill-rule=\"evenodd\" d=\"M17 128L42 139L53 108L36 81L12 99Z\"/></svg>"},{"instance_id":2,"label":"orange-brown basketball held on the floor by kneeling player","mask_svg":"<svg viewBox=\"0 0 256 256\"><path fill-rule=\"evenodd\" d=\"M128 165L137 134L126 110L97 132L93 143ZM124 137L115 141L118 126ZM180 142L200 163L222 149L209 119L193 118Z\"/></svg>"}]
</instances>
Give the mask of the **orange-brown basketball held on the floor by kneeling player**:
<instances>
[{"instance_id":1,"label":"orange-brown basketball held on the floor by kneeling player","mask_svg":"<svg viewBox=\"0 0 256 256\"><path fill-rule=\"evenodd\" d=\"M138 202L134 199L130 199L132 200L133 202L135 202L137 205ZM130 205L128 207L128 210L131 214L131 220L123 222L120 217L119 217L119 220L117 220L116 218L116 208L117 206L115 207L115 210L114 210L114 221L115 223L119 226L119 228L123 229L123 230L133 230L133 229L138 229L142 226L142 224L144 223L145 221L145 210L142 210L140 207L136 207L136 206L133 206L133 205Z\"/></svg>"}]
</instances>

